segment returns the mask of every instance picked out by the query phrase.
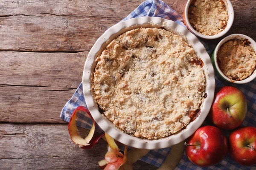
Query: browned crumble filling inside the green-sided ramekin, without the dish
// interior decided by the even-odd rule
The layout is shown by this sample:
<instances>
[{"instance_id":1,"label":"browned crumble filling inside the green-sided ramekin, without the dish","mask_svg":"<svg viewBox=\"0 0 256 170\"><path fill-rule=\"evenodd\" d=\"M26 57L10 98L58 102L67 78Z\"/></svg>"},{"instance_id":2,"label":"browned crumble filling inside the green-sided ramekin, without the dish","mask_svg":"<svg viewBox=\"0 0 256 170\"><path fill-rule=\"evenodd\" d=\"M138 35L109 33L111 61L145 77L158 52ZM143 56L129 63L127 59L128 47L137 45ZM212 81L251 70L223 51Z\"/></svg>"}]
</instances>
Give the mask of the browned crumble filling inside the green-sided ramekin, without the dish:
<instances>
[{"instance_id":1,"label":"browned crumble filling inside the green-sided ramekin, without the dish","mask_svg":"<svg viewBox=\"0 0 256 170\"><path fill-rule=\"evenodd\" d=\"M221 45L217 54L218 66L233 80L249 77L256 67L256 54L247 40L230 40Z\"/></svg>"}]
</instances>

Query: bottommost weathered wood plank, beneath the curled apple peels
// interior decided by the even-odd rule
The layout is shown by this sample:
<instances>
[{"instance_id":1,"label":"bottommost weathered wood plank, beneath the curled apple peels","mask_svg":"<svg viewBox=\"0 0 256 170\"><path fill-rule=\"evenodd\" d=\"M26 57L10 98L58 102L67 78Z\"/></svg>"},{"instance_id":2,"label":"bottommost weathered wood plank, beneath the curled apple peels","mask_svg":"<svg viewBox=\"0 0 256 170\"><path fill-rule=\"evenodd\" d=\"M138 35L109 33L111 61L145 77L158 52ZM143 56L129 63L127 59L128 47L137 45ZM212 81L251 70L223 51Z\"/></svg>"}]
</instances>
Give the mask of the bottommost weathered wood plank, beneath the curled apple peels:
<instances>
[{"instance_id":1,"label":"bottommost weathered wood plank, beneath the curled apple peels","mask_svg":"<svg viewBox=\"0 0 256 170\"><path fill-rule=\"evenodd\" d=\"M88 130L81 130L88 133ZM67 125L0 124L0 169L5 170L98 170L107 144L101 139L91 150L78 148L70 140ZM143 161L134 170L154 170Z\"/></svg>"}]
</instances>

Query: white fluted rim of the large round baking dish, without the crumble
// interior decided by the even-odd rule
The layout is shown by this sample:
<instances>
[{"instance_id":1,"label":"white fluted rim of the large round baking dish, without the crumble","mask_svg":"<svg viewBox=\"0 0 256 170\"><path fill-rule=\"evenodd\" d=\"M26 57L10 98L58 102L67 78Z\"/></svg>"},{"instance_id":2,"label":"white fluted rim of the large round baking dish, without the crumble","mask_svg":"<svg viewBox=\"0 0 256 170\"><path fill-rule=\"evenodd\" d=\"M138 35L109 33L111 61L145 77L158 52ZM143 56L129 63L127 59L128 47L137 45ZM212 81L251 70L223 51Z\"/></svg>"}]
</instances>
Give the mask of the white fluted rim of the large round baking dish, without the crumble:
<instances>
[{"instance_id":1,"label":"white fluted rim of the large round baking dish, without the crumble","mask_svg":"<svg viewBox=\"0 0 256 170\"><path fill-rule=\"evenodd\" d=\"M135 29L135 28L160 28L163 27L167 31L172 31L175 34L179 34L182 37L186 37L189 45L195 50L195 53L201 60L204 62L204 74L206 75L206 93L207 98L204 100L204 103L201 107L201 113L193 122L190 122L189 125L186 126L183 130L178 131L177 133L167 136L161 139L142 139L137 138L135 136L128 135L122 130L119 130L117 127L113 125L108 119L106 119L97 108L97 105L93 99L91 94L91 84L90 80L93 78L93 71L96 66L96 62L94 61L98 55L102 53L104 48L110 43L113 39L118 37L120 34ZM117 141L126 144L131 147L137 147L141 149L158 149L164 147L170 147L174 144L182 142L189 136L191 136L198 127L204 122L207 114L209 113L210 107L212 105L213 97L215 90L215 78L214 78L214 70L212 67L211 59L207 54L204 46L201 42L198 41L198 38L189 32L185 27L178 25L177 23L166 20L160 17L140 17L133 18L127 21L123 21L121 23L117 23L116 25L109 28L105 33L99 37L96 43L91 48L85 65L84 65L84 73L83 73L83 92L84 98L87 104L87 107L93 116L93 119L102 128L106 133L108 133L111 137L116 139Z\"/></svg>"}]
</instances>

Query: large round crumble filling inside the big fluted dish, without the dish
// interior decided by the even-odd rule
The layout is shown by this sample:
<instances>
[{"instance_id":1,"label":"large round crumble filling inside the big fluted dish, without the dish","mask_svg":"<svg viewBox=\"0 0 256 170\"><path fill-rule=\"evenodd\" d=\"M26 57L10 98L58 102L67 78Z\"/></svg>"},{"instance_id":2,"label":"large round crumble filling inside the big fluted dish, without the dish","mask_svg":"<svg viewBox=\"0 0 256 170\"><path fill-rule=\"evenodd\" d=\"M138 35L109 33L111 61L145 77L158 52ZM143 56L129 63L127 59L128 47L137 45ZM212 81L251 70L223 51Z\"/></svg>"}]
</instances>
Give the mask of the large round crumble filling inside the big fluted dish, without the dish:
<instances>
[{"instance_id":1,"label":"large round crumble filling inside the big fluted dish, without the dish","mask_svg":"<svg viewBox=\"0 0 256 170\"><path fill-rule=\"evenodd\" d=\"M200 61L182 37L138 28L96 58L92 91L101 111L125 133L147 139L181 130L205 96Z\"/></svg>"}]
</instances>

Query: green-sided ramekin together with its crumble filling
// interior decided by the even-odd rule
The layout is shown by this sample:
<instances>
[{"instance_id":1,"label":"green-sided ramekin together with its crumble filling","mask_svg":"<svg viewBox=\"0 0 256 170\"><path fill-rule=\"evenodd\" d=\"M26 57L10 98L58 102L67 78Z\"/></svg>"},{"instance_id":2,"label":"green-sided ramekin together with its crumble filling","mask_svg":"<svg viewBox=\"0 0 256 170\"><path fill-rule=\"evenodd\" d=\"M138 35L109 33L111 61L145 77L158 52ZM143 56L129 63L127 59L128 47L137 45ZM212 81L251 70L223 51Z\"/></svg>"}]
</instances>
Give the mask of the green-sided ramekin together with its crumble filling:
<instances>
[{"instance_id":1,"label":"green-sided ramekin together with its crumble filling","mask_svg":"<svg viewBox=\"0 0 256 170\"><path fill-rule=\"evenodd\" d=\"M250 82L256 78L256 42L243 34L229 35L213 51L212 64L228 82Z\"/></svg>"}]
</instances>

